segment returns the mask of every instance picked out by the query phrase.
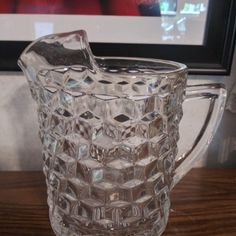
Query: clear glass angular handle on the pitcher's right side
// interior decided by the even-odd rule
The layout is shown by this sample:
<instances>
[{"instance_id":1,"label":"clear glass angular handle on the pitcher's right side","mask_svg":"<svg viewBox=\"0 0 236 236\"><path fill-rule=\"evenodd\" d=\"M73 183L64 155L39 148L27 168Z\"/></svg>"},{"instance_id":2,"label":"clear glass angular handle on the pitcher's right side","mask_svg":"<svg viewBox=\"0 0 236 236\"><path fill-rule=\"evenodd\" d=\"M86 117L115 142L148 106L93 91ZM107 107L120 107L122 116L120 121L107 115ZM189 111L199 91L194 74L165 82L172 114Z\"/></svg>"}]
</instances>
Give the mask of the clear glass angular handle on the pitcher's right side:
<instances>
[{"instance_id":1,"label":"clear glass angular handle on the pitcher's right side","mask_svg":"<svg viewBox=\"0 0 236 236\"><path fill-rule=\"evenodd\" d=\"M210 100L208 112L193 145L188 151L176 158L175 174L171 188L192 168L193 163L199 159L208 148L221 121L227 90L220 83L191 85L186 88L184 102L196 99Z\"/></svg>"}]
</instances>

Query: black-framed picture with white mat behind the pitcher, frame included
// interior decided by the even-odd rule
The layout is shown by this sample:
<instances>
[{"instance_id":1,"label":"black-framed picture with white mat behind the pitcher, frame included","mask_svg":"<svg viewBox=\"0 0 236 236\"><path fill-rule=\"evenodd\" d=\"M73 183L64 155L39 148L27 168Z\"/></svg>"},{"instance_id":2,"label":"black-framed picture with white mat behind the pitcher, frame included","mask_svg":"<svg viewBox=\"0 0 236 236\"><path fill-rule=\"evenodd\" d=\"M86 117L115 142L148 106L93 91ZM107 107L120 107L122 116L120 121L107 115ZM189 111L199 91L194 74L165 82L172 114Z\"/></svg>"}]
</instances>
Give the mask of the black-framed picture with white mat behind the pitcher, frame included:
<instances>
[{"instance_id":1,"label":"black-framed picture with white mat behind the pitcher, frame included","mask_svg":"<svg viewBox=\"0 0 236 236\"><path fill-rule=\"evenodd\" d=\"M84 29L97 56L174 60L192 74L227 75L236 1L8 0L0 21L0 70L19 70L20 53L38 37Z\"/></svg>"}]
</instances>

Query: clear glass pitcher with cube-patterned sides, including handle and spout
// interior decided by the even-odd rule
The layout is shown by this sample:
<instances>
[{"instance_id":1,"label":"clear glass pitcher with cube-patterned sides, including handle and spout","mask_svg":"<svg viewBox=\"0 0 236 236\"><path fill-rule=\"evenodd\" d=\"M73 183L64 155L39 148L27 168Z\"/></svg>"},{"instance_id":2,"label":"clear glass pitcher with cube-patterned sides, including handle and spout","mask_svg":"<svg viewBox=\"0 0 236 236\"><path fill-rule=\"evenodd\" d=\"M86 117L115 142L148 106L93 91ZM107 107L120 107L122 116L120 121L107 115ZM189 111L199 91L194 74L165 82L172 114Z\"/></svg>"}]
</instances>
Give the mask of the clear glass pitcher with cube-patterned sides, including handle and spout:
<instances>
[{"instance_id":1,"label":"clear glass pitcher with cube-patterned sides, including handle and spout","mask_svg":"<svg viewBox=\"0 0 236 236\"><path fill-rule=\"evenodd\" d=\"M161 235L171 189L221 120L223 86L186 87L186 66L172 61L95 57L83 30L42 37L18 62L38 105L55 234ZM177 157L182 103L191 99L209 99L209 110Z\"/></svg>"}]
</instances>

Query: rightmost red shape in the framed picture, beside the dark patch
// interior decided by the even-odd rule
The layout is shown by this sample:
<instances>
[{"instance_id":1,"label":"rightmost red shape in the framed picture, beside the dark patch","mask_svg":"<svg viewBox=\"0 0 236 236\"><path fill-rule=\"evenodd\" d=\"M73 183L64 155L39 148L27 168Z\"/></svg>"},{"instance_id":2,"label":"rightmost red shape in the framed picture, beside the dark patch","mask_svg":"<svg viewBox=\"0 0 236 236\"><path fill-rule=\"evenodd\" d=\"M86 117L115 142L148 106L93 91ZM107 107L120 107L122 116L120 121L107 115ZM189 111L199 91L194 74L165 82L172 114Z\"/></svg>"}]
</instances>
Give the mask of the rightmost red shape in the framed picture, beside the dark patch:
<instances>
[{"instance_id":1,"label":"rightmost red shape in the framed picture, beside the dark patch","mask_svg":"<svg viewBox=\"0 0 236 236\"><path fill-rule=\"evenodd\" d=\"M138 5L135 0L107 1L107 14L118 16L139 16Z\"/></svg>"}]
</instances>

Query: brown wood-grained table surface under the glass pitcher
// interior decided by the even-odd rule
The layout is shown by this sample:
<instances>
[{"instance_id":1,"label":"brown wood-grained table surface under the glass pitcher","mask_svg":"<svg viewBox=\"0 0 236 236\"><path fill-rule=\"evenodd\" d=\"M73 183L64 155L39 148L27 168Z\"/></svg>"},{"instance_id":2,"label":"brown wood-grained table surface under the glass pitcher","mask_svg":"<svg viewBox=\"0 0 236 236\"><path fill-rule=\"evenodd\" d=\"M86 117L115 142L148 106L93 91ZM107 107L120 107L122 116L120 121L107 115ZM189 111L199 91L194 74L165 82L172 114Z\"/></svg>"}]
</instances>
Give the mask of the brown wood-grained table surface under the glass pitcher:
<instances>
[{"instance_id":1,"label":"brown wood-grained table surface under the glass pitcher","mask_svg":"<svg viewBox=\"0 0 236 236\"><path fill-rule=\"evenodd\" d=\"M193 169L172 192L163 236L236 236L236 169ZM53 236L42 172L0 172L0 236Z\"/></svg>"}]
</instances>

